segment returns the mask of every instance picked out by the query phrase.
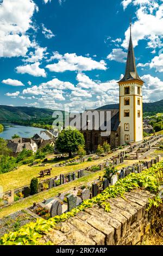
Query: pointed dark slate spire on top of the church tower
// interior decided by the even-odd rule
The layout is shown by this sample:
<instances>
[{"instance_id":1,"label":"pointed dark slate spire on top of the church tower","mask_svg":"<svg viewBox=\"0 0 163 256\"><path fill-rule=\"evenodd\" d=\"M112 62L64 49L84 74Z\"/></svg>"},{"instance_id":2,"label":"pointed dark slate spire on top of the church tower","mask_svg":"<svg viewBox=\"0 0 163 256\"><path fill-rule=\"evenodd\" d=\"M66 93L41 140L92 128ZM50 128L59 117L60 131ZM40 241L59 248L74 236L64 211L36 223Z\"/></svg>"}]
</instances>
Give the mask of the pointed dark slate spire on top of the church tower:
<instances>
[{"instance_id":1,"label":"pointed dark slate spire on top of the church tower","mask_svg":"<svg viewBox=\"0 0 163 256\"><path fill-rule=\"evenodd\" d=\"M131 36L131 22L130 22L130 40L129 40L128 54L127 54L126 72L120 82L125 82L129 80L134 80L134 79L143 82L139 77L139 75L137 74L137 70L136 70L135 53L134 53L132 36Z\"/></svg>"}]
</instances>

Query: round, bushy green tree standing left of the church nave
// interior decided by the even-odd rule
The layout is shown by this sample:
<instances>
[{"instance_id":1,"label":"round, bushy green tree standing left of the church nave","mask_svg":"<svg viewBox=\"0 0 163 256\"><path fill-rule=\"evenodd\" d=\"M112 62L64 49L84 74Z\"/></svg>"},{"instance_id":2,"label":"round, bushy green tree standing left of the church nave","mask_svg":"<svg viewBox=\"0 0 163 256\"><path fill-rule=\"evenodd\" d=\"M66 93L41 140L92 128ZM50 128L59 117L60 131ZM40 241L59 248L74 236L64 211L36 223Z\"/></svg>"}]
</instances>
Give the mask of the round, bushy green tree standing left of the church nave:
<instances>
[{"instance_id":1,"label":"round, bushy green tree standing left of the church nave","mask_svg":"<svg viewBox=\"0 0 163 256\"><path fill-rule=\"evenodd\" d=\"M68 153L69 157L71 157L72 153L77 152L79 145L85 145L85 140L80 131L73 129L72 127L68 127L59 133L55 145L60 153Z\"/></svg>"}]
</instances>

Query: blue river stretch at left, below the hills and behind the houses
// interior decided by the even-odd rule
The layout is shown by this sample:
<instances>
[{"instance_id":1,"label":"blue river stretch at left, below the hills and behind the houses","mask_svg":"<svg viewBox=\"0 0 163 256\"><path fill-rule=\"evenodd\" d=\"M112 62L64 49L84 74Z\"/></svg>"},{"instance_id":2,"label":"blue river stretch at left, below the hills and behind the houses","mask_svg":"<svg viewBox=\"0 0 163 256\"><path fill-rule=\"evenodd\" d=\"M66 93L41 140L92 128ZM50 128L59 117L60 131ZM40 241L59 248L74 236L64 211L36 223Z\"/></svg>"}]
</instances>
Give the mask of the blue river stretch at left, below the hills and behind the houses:
<instances>
[{"instance_id":1,"label":"blue river stretch at left, below the hills and behind the houses","mask_svg":"<svg viewBox=\"0 0 163 256\"><path fill-rule=\"evenodd\" d=\"M3 138L3 139L11 139L11 137L15 134L17 134L21 138L31 138L36 133L45 130L42 128L36 128L32 126L22 126L22 125L14 125L14 124L2 124L2 125L4 126L4 131L0 133L0 138Z\"/></svg>"}]
</instances>

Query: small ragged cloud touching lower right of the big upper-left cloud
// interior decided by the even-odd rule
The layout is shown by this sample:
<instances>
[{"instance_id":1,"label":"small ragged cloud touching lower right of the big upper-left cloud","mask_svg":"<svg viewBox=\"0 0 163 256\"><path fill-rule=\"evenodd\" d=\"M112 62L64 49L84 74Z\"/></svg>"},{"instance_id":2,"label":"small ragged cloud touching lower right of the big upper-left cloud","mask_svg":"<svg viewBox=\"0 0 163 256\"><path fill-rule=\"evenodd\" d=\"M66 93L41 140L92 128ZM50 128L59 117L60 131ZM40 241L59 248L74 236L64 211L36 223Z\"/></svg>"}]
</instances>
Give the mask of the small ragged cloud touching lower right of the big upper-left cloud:
<instances>
[{"instance_id":1,"label":"small ragged cloud touching lower right of the big upper-left cloud","mask_svg":"<svg viewBox=\"0 0 163 256\"><path fill-rule=\"evenodd\" d=\"M30 52L28 57L23 60L23 62L35 63L39 62L45 58L45 52L47 51L47 47L35 46L35 52Z\"/></svg>"}]
</instances>

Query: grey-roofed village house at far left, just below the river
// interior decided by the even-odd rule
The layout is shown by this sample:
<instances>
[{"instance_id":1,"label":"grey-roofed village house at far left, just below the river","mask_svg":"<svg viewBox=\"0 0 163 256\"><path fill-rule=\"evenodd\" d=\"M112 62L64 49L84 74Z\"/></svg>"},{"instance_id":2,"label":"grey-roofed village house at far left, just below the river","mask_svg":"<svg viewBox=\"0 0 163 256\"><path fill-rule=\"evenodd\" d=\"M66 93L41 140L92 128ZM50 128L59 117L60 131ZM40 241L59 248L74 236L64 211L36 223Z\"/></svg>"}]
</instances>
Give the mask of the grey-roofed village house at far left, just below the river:
<instances>
[{"instance_id":1,"label":"grey-roofed village house at far left, just below the river","mask_svg":"<svg viewBox=\"0 0 163 256\"><path fill-rule=\"evenodd\" d=\"M17 156L23 149L32 150L33 153L37 151L37 144L30 138L9 139L7 146L11 150L12 156Z\"/></svg>"}]
</instances>

